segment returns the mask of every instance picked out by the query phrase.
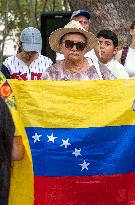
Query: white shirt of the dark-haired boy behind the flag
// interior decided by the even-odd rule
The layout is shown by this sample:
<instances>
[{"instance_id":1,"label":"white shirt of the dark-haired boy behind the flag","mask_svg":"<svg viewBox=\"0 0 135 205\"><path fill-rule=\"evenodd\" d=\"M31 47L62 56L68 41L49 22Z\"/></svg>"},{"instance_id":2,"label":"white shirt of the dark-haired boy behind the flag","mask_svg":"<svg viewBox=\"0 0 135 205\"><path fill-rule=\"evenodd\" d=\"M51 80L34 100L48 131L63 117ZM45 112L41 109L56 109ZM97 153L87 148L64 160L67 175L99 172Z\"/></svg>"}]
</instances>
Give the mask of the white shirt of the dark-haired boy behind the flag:
<instances>
[{"instance_id":1,"label":"white shirt of the dark-haired boy behind the flag","mask_svg":"<svg viewBox=\"0 0 135 205\"><path fill-rule=\"evenodd\" d=\"M117 79L128 79L129 78L129 75L127 71L125 70L124 66L120 64L117 60L112 59L105 65L108 67L108 69Z\"/></svg>"}]
</instances>

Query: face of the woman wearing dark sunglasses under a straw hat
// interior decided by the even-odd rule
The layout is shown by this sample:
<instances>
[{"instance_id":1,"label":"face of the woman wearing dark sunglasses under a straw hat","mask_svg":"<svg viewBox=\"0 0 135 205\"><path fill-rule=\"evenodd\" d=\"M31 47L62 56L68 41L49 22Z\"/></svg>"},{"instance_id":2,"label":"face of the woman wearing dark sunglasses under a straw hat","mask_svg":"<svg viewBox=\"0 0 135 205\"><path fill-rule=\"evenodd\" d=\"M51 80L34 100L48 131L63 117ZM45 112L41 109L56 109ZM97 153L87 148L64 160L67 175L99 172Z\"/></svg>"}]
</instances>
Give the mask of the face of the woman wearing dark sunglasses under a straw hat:
<instances>
[{"instance_id":1,"label":"face of the woman wearing dark sunglasses under a straw hat","mask_svg":"<svg viewBox=\"0 0 135 205\"><path fill-rule=\"evenodd\" d=\"M60 51L65 60L78 61L84 58L86 53L86 39L81 34L66 34L60 43Z\"/></svg>"}]
</instances>

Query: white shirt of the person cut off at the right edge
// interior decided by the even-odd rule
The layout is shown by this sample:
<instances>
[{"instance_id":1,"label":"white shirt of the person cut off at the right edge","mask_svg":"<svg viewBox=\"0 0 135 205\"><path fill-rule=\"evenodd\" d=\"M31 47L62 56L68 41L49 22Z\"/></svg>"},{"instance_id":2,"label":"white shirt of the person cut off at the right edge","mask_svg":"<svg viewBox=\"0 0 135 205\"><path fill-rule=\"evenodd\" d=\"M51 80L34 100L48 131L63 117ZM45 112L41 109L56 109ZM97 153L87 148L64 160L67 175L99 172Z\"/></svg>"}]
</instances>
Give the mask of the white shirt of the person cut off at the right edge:
<instances>
[{"instance_id":1,"label":"white shirt of the person cut off at the right edge","mask_svg":"<svg viewBox=\"0 0 135 205\"><path fill-rule=\"evenodd\" d=\"M129 47L124 68L130 78L135 78L135 49Z\"/></svg>"}]
</instances>

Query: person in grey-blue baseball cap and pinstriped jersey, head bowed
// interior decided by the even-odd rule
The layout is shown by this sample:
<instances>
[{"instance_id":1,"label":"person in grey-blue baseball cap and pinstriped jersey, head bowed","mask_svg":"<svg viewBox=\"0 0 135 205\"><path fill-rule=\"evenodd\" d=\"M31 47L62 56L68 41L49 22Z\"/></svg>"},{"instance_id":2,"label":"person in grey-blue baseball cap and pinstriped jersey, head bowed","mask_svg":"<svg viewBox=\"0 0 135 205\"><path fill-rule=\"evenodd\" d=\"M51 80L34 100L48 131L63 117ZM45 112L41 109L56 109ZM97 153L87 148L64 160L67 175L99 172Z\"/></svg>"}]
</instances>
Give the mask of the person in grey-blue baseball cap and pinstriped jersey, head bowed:
<instances>
[{"instance_id":1,"label":"person in grey-blue baseball cap and pinstriped jersey, head bowed","mask_svg":"<svg viewBox=\"0 0 135 205\"><path fill-rule=\"evenodd\" d=\"M7 79L40 80L52 60L41 55L42 37L37 28L27 27L20 35L20 52L8 57L1 71Z\"/></svg>"}]
</instances>

